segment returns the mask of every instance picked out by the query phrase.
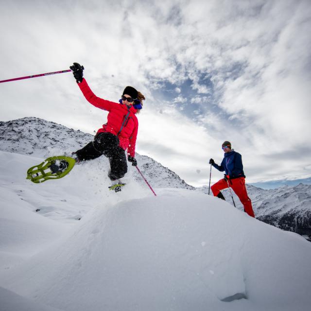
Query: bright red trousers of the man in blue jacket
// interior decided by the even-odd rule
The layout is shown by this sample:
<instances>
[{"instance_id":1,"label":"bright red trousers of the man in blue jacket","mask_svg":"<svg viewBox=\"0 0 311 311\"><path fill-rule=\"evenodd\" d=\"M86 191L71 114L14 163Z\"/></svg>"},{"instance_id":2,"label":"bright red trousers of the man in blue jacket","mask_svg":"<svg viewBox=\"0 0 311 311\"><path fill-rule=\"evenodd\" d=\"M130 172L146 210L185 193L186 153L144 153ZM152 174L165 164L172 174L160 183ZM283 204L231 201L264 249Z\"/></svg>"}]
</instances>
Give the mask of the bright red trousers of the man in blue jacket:
<instances>
[{"instance_id":1,"label":"bright red trousers of the man in blue jacket","mask_svg":"<svg viewBox=\"0 0 311 311\"><path fill-rule=\"evenodd\" d=\"M252 201L247 195L247 191L245 187L245 178L240 177L240 178L228 179L228 182L232 190L236 193L241 203L243 204L244 211L249 216L255 217L253 207L252 207ZM223 190L226 188L228 188L228 184L225 181L225 179L219 180L216 184L210 187L214 196L217 196L220 190Z\"/></svg>"}]
</instances>

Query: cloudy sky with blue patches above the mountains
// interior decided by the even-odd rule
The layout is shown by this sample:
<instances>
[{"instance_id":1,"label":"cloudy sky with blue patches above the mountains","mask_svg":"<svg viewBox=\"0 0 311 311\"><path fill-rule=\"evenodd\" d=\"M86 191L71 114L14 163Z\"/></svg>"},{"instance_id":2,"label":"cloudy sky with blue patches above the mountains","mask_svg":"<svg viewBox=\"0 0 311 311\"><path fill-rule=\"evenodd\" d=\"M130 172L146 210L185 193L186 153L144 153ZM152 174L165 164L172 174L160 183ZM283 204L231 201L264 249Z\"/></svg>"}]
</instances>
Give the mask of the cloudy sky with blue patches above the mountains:
<instances>
[{"instance_id":1,"label":"cloudy sky with blue patches above the mountains","mask_svg":"<svg viewBox=\"0 0 311 311\"><path fill-rule=\"evenodd\" d=\"M136 87L136 151L190 185L208 184L225 140L247 183L310 183L311 1L0 0L0 26L0 80L79 62L101 98ZM94 134L106 115L70 72L0 84L0 121Z\"/></svg>"}]
</instances>

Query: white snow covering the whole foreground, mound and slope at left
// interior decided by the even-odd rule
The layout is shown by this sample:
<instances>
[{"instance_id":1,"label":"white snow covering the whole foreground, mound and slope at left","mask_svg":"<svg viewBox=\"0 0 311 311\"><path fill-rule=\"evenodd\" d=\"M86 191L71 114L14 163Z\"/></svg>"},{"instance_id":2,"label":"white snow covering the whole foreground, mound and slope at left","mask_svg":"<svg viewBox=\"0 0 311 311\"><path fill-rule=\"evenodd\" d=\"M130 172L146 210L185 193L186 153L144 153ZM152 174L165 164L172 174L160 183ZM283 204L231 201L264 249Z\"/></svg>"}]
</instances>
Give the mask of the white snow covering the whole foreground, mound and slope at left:
<instances>
[{"instance_id":1,"label":"white snow covering the whole foreground, mound and slope at left","mask_svg":"<svg viewBox=\"0 0 311 311\"><path fill-rule=\"evenodd\" d=\"M310 310L301 236L202 191L155 197L131 166L108 191L104 157L26 180L42 160L0 152L0 311Z\"/></svg>"}]
</instances>

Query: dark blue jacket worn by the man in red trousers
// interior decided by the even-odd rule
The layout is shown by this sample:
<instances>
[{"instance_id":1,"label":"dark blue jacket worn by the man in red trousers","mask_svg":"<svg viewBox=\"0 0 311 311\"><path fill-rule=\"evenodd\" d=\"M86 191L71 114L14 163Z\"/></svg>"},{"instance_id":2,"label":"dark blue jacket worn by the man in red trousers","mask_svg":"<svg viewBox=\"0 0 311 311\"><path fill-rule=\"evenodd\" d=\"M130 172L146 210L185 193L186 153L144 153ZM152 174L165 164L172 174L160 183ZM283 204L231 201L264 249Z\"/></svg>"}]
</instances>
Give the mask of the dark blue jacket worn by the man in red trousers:
<instances>
[{"instance_id":1,"label":"dark blue jacket worn by the man in red trousers","mask_svg":"<svg viewBox=\"0 0 311 311\"><path fill-rule=\"evenodd\" d=\"M230 179L245 177L243 172L242 155L232 149L224 156L221 165L214 163L212 166L220 172L225 171L225 174L229 175Z\"/></svg>"}]
</instances>

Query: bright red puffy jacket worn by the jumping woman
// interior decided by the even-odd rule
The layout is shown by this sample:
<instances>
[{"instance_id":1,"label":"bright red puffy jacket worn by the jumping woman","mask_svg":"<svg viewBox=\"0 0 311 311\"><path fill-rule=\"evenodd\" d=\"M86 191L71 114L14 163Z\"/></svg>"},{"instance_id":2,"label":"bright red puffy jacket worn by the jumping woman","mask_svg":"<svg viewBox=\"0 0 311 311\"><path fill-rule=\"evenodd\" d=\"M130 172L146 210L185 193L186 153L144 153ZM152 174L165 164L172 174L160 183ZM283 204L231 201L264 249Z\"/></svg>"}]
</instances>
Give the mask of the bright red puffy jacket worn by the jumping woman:
<instances>
[{"instance_id":1,"label":"bright red puffy jacket worn by the jumping woman","mask_svg":"<svg viewBox=\"0 0 311 311\"><path fill-rule=\"evenodd\" d=\"M106 101L97 97L83 79L78 83L86 100L95 107L109 111L107 116L107 123L103 124L97 133L112 133L118 136L120 140L120 147L131 156L135 156L135 144L138 131L138 120L135 115L137 109L133 106L128 108L125 104L119 104Z\"/></svg>"}]
</instances>

